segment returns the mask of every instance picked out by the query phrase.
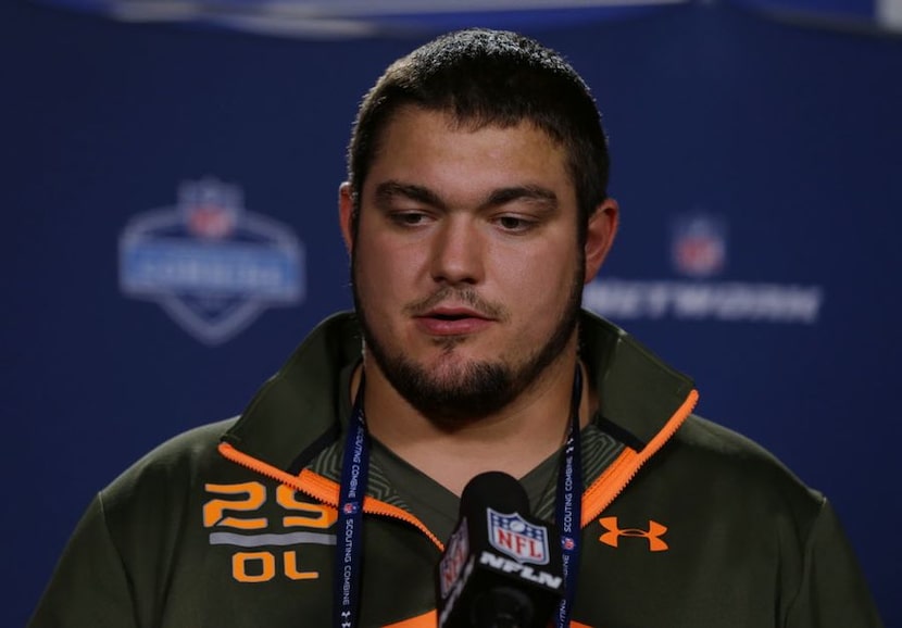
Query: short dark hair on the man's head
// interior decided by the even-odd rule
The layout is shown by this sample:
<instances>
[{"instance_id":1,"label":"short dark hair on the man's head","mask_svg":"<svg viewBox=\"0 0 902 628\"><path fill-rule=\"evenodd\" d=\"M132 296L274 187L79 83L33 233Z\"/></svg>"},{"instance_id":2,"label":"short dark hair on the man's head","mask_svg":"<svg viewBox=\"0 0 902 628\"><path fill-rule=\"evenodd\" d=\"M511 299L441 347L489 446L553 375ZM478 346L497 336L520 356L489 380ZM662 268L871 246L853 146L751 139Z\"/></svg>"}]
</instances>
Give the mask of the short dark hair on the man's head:
<instances>
[{"instance_id":1,"label":"short dark hair on the man's head","mask_svg":"<svg viewBox=\"0 0 902 628\"><path fill-rule=\"evenodd\" d=\"M354 237L381 134L404 106L448 112L475 128L529 121L560 142L576 188L581 246L590 214L607 197L607 138L589 87L560 53L516 33L471 28L392 63L361 102L348 147Z\"/></svg>"}]
</instances>

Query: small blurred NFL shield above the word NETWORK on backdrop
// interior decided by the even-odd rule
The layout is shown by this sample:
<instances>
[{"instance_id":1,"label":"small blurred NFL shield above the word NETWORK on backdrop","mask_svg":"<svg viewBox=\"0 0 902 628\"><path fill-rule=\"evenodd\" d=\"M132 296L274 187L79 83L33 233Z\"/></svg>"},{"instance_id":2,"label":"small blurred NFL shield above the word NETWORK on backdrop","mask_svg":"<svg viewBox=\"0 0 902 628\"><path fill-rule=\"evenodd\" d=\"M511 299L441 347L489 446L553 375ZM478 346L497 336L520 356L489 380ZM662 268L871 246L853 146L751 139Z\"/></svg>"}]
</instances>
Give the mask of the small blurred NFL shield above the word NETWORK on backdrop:
<instances>
[{"instance_id":1,"label":"small blurred NFL shield above the word NETWORK on backdrop","mask_svg":"<svg viewBox=\"0 0 902 628\"><path fill-rule=\"evenodd\" d=\"M696 213L673 223L671 256L680 275L705 278L724 271L727 262L727 225L722 218Z\"/></svg>"}]
</instances>

